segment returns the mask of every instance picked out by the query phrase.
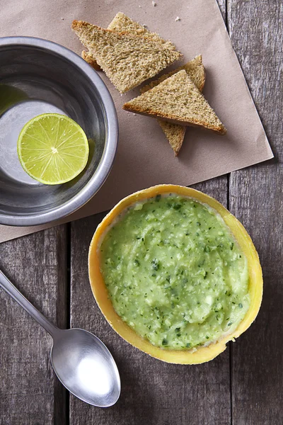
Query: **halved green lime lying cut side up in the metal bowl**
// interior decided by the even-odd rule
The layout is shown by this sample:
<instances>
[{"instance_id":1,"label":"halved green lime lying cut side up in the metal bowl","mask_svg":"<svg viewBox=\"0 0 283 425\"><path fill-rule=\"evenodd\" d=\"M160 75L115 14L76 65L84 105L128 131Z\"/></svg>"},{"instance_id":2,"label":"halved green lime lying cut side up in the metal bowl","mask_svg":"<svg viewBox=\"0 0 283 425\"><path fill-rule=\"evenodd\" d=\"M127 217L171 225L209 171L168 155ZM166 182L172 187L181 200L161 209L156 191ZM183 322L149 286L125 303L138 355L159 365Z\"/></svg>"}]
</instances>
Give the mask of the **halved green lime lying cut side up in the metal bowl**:
<instances>
[{"instance_id":1,"label":"halved green lime lying cut side up in the metal bowl","mask_svg":"<svg viewBox=\"0 0 283 425\"><path fill-rule=\"evenodd\" d=\"M74 120L44 113L28 121L18 137L18 158L30 177L45 184L66 183L88 161L88 139Z\"/></svg>"}]
</instances>

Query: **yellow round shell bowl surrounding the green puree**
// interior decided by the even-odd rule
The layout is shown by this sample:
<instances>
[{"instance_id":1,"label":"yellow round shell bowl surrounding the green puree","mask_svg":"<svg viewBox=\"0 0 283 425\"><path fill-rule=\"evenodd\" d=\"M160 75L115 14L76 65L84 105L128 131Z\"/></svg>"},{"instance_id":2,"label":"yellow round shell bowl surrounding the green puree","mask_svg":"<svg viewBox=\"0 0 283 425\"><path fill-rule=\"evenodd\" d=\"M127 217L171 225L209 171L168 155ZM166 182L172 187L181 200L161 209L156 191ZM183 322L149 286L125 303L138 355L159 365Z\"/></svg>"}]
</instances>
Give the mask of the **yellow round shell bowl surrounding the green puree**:
<instances>
[{"instance_id":1,"label":"yellow round shell bowl surrounding the green puree","mask_svg":"<svg viewBox=\"0 0 283 425\"><path fill-rule=\"evenodd\" d=\"M125 210L125 208L137 203L139 200L153 198L158 193L176 193L180 196L190 197L200 201L201 203L209 205L209 207L213 208L221 215L248 259L250 307L246 316L231 334L224 336L222 339L216 343L210 344L209 346L200 346L195 352L190 350L177 351L159 348L136 334L136 332L123 322L120 316L118 316L115 312L112 302L108 297L108 290L105 286L103 276L100 273L99 246L113 220L115 220L116 217ZM141 351L168 363L197 364L212 360L214 357L218 356L225 350L228 341L240 336L244 331L246 331L246 329L248 329L250 324L252 324L258 314L262 300L262 271L260 261L258 259L258 253L255 250L255 246L246 232L246 229L244 229L243 225L238 222L236 217L226 210L226 208L224 208L224 206L217 200L202 192L195 191L195 189L186 188L184 186L154 186L145 189L144 191L133 193L132 195L127 196L127 198L122 199L120 203L118 203L108 213L108 215L106 215L93 235L88 254L88 273L93 296L96 298L96 302L98 303L101 312L104 314L112 328L115 329L117 334L122 336L122 338L129 342L129 344L139 348Z\"/></svg>"}]
</instances>

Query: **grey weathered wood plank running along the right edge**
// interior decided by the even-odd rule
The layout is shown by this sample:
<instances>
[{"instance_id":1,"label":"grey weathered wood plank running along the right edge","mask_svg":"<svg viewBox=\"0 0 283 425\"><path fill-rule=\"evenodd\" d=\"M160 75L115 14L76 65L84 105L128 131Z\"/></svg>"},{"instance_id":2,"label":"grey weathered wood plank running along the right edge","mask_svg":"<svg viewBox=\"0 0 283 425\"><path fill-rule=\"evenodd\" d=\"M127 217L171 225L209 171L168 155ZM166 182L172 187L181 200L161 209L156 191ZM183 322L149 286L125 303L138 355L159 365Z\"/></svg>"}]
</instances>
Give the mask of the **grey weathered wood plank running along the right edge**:
<instances>
[{"instance_id":1,"label":"grey weathered wood plank running along the right edge","mask_svg":"<svg viewBox=\"0 0 283 425\"><path fill-rule=\"evenodd\" d=\"M282 424L283 151L282 2L229 0L229 30L275 160L231 174L230 210L258 249L264 295L260 314L232 345L234 425Z\"/></svg>"}]
</instances>

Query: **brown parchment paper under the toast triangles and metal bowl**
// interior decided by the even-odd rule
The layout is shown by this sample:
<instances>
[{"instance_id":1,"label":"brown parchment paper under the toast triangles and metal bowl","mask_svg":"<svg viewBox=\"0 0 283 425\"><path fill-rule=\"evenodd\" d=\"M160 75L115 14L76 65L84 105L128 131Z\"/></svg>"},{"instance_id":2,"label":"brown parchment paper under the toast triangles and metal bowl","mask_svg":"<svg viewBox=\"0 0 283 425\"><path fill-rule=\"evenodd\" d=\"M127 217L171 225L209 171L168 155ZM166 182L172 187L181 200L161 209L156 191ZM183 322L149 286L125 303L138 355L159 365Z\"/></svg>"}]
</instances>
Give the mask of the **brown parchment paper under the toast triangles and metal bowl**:
<instances>
[{"instance_id":1,"label":"brown parchment paper under the toast triangles and metal bowl","mask_svg":"<svg viewBox=\"0 0 283 425\"><path fill-rule=\"evenodd\" d=\"M180 63L202 54L207 70L204 96L228 130L226 136L220 136L188 128L179 157L175 158L156 120L122 110L125 101L139 94L138 89L121 96L100 73L117 108L117 156L108 180L96 196L60 222L108 210L124 196L147 186L189 186L273 157L216 0L156 0L156 6L151 0L0 0L0 11L1 37L46 38L79 55L82 46L71 31L73 19L106 28L115 13L126 13L163 38L170 38L183 52ZM177 17L180 21L175 21ZM58 223L0 226L0 242Z\"/></svg>"}]
</instances>

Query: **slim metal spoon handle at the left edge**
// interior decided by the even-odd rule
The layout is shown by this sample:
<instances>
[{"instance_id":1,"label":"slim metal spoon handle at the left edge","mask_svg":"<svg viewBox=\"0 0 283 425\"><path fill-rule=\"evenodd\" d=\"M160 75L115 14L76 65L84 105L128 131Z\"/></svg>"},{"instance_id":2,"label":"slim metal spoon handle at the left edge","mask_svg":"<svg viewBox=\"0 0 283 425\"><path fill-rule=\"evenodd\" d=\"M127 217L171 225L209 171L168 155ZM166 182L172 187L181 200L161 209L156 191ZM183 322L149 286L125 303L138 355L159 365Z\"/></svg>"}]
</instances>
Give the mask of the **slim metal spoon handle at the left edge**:
<instances>
[{"instance_id":1,"label":"slim metal spoon handle at the left edge","mask_svg":"<svg viewBox=\"0 0 283 425\"><path fill-rule=\"evenodd\" d=\"M8 295L18 302L21 307L25 309L28 314L30 314L33 319L35 319L51 336L54 337L54 334L59 331L59 328L50 323L46 317L43 316L24 296L20 291L13 285L13 283L8 280L4 273L0 270L0 286L6 290Z\"/></svg>"}]
</instances>

